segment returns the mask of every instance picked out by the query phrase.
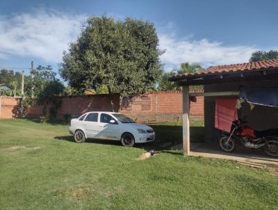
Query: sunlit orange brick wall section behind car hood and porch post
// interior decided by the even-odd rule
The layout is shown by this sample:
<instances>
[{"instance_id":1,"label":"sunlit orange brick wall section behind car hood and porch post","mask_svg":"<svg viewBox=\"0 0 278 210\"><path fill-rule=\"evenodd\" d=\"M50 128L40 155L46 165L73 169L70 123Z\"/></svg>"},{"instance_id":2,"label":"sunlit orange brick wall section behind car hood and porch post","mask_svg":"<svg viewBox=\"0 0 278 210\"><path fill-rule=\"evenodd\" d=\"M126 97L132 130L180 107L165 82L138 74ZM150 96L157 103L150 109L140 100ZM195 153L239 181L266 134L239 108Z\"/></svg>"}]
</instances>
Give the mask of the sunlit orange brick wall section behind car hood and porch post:
<instances>
[{"instance_id":1,"label":"sunlit orange brick wall section behind car hood and porch post","mask_svg":"<svg viewBox=\"0 0 278 210\"><path fill-rule=\"evenodd\" d=\"M190 102L190 117L203 118L204 97L196 98L197 102ZM181 120L182 110L182 91L166 90L144 95L126 95L122 99L120 112L137 121L165 121Z\"/></svg>"}]
</instances>

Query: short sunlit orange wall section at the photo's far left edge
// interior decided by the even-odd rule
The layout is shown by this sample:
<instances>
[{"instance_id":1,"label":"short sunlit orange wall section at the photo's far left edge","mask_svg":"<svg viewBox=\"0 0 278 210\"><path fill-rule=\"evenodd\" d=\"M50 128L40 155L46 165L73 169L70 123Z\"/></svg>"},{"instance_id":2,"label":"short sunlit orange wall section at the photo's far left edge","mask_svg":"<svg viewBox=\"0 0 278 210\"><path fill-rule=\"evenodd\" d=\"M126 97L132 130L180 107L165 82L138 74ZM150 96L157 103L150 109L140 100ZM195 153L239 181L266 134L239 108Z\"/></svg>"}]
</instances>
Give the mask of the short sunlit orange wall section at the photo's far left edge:
<instances>
[{"instance_id":1,"label":"short sunlit orange wall section at the photo's far left edge","mask_svg":"<svg viewBox=\"0 0 278 210\"><path fill-rule=\"evenodd\" d=\"M0 118L17 118L19 98L0 97Z\"/></svg>"}]
</instances>

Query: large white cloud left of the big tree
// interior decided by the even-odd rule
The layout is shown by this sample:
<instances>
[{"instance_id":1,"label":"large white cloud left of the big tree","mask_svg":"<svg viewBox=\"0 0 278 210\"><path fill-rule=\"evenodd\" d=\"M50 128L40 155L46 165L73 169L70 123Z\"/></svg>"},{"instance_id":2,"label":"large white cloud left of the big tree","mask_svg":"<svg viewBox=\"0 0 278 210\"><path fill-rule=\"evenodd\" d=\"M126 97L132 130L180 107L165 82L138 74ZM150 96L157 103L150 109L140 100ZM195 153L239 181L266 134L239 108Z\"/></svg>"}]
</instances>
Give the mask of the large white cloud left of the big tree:
<instances>
[{"instance_id":1,"label":"large white cloud left of the big tree","mask_svg":"<svg viewBox=\"0 0 278 210\"><path fill-rule=\"evenodd\" d=\"M63 50L78 37L85 18L54 10L0 16L0 58L34 56L58 63Z\"/></svg>"}]
</instances>

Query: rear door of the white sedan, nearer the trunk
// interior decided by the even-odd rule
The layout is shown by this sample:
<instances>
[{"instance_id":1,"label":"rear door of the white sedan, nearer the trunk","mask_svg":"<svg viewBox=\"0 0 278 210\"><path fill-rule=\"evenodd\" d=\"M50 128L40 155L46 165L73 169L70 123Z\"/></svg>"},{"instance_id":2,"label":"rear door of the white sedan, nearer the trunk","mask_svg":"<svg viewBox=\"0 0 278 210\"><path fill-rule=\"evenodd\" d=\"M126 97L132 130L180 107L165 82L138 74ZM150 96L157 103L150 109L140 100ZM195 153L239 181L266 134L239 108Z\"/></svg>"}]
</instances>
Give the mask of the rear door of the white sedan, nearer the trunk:
<instances>
[{"instance_id":1,"label":"rear door of the white sedan, nearer the trunk","mask_svg":"<svg viewBox=\"0 0 278 210\"><path fill-rule=\"evenodd\" d=\"M83 120L83 125L85 127L85 132L88 138L95 138L99 131L99 124L97 118L99 113L88 113L86 118Z\"/></svg>"}]
</instances>

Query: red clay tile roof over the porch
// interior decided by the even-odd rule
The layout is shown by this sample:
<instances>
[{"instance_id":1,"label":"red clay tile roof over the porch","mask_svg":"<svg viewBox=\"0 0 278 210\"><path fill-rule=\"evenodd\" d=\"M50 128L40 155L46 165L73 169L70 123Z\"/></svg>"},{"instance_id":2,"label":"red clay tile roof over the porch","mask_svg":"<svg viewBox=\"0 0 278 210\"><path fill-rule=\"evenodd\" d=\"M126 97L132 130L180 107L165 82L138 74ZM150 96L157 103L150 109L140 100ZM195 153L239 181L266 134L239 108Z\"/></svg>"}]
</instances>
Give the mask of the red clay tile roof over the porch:
<instances>
[{"instance_id":1,"label":"red clay tile roof over the porch","mask_svg":"<svg viewBox=\"0 0 278 210\"><path fill-rule=\"evenodd\" d=\"M207 70L202 70L201 72L189 73L189 74L176 74L173 75L171 79L184 77L184 76L195 76L195 75L198 76L202 74L268 70L273 68L278 68L278 60L265 60L265 61L257 61L257 62L250 62L250 63L218 65L218 66L208 67Z\"/></svg>"}]
</instances>

